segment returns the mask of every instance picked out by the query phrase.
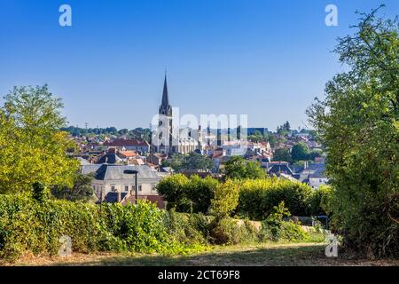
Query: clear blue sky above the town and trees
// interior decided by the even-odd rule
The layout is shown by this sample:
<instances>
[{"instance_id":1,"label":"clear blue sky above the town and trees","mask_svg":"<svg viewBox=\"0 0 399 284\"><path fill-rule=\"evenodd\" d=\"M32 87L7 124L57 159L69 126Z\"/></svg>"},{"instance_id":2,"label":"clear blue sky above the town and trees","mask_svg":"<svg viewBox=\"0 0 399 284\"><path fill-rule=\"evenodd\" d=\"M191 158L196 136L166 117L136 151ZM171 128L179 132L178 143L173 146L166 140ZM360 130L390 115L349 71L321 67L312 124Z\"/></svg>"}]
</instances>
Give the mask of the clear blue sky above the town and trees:
<instances>
[{"instance_id":1,"label":"clear blue sky above the town and trees","mask_svg":"<svg viewBox=\"0 0 399 284\"><path fill-rule=\"evenodd\" d=\"M72 27L59 26L59 6ZM338 7L338 27L325 6ZM307 123L341 71L331 53L356 10L398 0L0 0L0 95L48 83L72 125L148 127L165 68L181 114L248 114L252 127ZM3 105L3 99L0 99Z\"/></svg>"}]
</instances>

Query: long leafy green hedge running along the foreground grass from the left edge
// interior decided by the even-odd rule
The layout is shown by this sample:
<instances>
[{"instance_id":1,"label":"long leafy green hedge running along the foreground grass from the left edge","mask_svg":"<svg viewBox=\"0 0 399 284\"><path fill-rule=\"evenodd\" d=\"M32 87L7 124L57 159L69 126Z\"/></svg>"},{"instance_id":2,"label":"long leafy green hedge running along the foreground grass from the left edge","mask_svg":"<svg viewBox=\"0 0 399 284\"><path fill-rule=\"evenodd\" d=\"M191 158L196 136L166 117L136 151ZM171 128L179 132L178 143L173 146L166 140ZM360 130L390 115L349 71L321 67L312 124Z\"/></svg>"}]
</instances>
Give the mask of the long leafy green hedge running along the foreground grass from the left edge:
<instances>
[{"instance_id":1,"label":"long leafy green hedge running along the foreground grass from the left edge","mask_svg":"<svg viewBox=\"0 0 399 284\"><path fill-rule=\"evenodd\" d=\"M285 230L285 226L280 226ZM301 230L301 228L299 228ZM281 233L284 235L285 233ZM0 258L55 256L68 235L74 252L185 254L209 244L262 241L249 221L176 213L146 201L136 205L35 201L29 194L0 194Z\"/></svg>"}]
</instances>

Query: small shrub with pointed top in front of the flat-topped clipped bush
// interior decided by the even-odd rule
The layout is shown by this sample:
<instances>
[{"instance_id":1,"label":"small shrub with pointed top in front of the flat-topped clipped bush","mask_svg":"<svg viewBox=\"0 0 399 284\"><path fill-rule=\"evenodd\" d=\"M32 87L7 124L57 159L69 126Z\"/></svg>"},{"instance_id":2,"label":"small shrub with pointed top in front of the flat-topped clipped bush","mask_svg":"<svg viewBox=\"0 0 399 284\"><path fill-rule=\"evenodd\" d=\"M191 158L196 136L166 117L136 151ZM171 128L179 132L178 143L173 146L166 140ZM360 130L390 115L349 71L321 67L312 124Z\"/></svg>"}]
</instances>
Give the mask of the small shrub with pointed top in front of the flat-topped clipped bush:
<instances>
[{"instance_id":1,"label":"small shrub with pointed top in front of the flat-topped clipped bush","mask_svg":"<svg viewBox=\"0 0 399 284\"><path fill-rule=\"evenodd\" d=\"M284 221L289 217L290 212L281 201L273 208L270 214L262 222L260 238L262 241L306 241L309 235L301 228L301 225L294 224L292 220Z\"/></svg>"}]
</instances>

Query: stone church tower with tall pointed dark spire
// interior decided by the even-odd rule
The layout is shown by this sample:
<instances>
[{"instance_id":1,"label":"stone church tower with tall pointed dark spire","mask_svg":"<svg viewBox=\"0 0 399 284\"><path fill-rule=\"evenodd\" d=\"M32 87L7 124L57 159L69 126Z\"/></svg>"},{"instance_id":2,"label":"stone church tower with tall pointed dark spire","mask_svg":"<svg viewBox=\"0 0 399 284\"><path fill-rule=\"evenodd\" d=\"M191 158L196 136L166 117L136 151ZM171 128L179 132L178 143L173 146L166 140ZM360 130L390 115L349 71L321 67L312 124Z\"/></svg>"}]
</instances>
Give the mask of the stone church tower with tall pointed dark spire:
<instances>
[{"instance_id":1,"label":"stone church tower with tall pointed dark spire","mask_svg":"<svg viewBox=\"0 0 399 284\"><path fill-rule=\"evenodd\" d=\"M165 81L163 83L162 102L159 110L159 124L158 124L158 139L160 146L158 152L172 153L173 146L173 124L172 124L172 106L169 105L168 98L168 82L165 74Z\"/></svg>"}]
</instances>

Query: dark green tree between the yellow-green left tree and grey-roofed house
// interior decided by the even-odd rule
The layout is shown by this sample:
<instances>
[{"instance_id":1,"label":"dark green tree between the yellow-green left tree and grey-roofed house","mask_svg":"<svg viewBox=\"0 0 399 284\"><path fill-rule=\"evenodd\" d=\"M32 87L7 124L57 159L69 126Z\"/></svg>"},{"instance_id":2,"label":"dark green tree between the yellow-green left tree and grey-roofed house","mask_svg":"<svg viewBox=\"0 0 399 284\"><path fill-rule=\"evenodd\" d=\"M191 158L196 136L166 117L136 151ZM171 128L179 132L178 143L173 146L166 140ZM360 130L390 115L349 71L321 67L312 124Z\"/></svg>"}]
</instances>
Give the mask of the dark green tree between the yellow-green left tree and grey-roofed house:
<instances>
[{"instance_id":1,"label":"dark green tree between the yellow-green left tree and grey-roofed house","mask_svg":"<svg viewBox=\"0 0 399 284\"><path fill-rule=\"evenodd\" d=\"M54 186L51 189L52 195L59 199L68 201L90 201L94 199L94 191L91 187L93 175L83 175L81 172L76 172L74 175L74 185L68 186Z\"/></svg>"}]
</instances>

